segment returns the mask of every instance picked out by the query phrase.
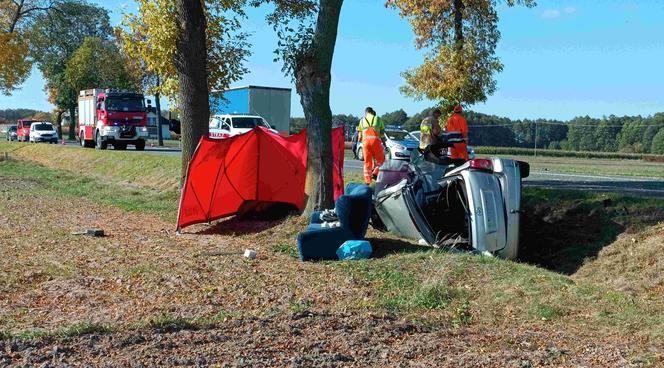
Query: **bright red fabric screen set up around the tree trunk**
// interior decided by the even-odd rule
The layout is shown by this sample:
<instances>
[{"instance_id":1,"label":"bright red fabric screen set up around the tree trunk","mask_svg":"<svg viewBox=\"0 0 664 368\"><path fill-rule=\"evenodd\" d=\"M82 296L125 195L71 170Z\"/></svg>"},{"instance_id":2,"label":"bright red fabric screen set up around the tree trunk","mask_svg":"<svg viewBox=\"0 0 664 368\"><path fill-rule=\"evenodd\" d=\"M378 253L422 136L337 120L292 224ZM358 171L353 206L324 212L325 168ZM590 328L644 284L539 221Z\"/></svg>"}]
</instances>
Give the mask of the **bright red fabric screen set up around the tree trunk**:
<instances>
[{"instance_id":1,"label":"bright red fabric screen set up around the tree trunk","mask_svg":"<svg viewBox=\"0 0 664 368\"><path fill-rule=\"evenodd\" d=\"M332 130L334 197L343 194L343 128ZM180 197L178 229L238 213L252 203L304 209L306 131L283 137L263 128L226 139L202 138Z\"/></svg>"}]
</instances>

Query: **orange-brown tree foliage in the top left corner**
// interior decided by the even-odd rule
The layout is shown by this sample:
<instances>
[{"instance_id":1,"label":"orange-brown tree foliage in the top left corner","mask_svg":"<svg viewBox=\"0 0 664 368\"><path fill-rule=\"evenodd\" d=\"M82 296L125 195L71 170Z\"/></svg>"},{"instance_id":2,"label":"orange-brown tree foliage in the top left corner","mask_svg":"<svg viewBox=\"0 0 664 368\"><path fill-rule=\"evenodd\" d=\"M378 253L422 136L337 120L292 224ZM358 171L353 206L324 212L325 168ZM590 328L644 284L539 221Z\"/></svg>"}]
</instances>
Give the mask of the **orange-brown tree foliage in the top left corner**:
<instances>
[{"instance_id":1,"label":"orange-brown tree foliage in the top left corner","mask_svg":"<svg viewBox=\"0 0 664 368\"><path fill-rule=\"evenodd\" d=\"M27 30L36 17L54 10L59 0L0 0L0 92L11 94L30 75Z\"/></svg>"}]
</instances>

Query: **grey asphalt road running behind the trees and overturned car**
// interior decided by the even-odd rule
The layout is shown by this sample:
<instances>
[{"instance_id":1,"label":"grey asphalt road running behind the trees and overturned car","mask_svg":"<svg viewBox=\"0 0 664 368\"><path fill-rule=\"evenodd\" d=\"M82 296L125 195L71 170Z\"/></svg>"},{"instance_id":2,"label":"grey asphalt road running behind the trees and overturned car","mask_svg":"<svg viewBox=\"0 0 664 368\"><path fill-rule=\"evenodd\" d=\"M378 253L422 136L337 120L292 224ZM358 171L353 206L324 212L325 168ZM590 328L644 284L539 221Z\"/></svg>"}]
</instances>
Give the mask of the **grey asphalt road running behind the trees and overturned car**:
<instances>
[{"instance_id":1,"label":"grey asphalt road running behind the trees and overturned car","mask_svg":"<svg viewBox=\"0 0 664 368\"><path fill-rule=\"evenodd\" d=\"M78 146L74 141L68 141L67 146ZM131 148L127 152L136 152ZM145 153L161 155L180 155L177 148L145 147ZM344 169L350 172L362 172L362 161L346 160ZM590 190L596 192L617 192L639 197L664 198L664 180L634 177L634 176L605 176L589 174L565 174L552 171L530 172L524 179L524 185L538 188Z\"/></svg>"}]
</instances>

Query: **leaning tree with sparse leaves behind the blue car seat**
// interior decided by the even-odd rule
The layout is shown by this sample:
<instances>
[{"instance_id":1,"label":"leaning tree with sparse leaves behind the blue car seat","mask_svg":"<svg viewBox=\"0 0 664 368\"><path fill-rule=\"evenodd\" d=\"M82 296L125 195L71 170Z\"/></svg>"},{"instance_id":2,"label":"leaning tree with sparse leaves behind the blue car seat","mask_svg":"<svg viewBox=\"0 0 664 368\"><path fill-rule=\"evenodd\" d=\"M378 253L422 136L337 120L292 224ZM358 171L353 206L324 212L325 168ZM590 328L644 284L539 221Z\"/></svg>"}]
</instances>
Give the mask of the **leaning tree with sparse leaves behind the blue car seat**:
<instances>
[{"instance_id":1,"label":"leaning tree with sparse leaves behind the blue car seat","mask_svg":"<svg viewBox=\"0 0 664 368\"><path fill-rule=\"evenodd\" d=\"M334 205L332 183L332 58L343 0L271 0L268 15L279 37L277 59L293 77L307 120L307 179L305 214Z\"/></svg>"}]
</instances>

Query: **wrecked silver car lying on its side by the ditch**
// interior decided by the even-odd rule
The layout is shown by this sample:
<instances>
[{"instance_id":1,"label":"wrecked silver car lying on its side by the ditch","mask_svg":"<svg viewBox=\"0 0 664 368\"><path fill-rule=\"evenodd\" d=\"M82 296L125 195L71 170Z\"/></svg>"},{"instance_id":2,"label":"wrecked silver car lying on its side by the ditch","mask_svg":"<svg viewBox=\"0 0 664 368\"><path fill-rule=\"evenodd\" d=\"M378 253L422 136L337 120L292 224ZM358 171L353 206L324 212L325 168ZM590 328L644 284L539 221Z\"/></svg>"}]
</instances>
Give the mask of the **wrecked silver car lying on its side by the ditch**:
<instances>
[{"instance_id":1,"label":"wrecked silver car lying on its side by the ditch","mask_svg":"<svg viewBox=\"0 0 664 368\"><path fill-rule=\"evenodd\" d=\"M457 138L448 135L444 142L449 146ZM529 165L497 157L425 157L389 160L381 167L374 227L435 247L516 258L521 179Z\"/></svg>"}]
</instances>

